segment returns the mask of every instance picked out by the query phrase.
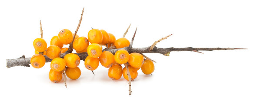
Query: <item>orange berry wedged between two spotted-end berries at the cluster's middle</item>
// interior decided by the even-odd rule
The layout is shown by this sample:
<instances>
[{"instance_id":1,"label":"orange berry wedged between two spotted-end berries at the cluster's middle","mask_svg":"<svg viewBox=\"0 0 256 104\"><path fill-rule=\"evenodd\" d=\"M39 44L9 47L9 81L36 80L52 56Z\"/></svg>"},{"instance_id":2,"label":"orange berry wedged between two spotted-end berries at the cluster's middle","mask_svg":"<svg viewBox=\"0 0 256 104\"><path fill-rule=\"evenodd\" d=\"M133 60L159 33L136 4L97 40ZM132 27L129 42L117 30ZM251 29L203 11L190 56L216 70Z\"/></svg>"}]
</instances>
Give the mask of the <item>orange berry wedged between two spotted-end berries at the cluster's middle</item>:
<instances>
[{"instance_id":1,"label":"orange berry wedged between two spotted-end berries at the cluster's middle","mask_svg":"<svg viewBox=\"0 0 256 104\"><path fill-rule=\"evenodd\" d=\"M115 62L114 55L109 51L104 51L100 55L100 64L106 68L109 68Z\"/></svg>"}]
</instances>

